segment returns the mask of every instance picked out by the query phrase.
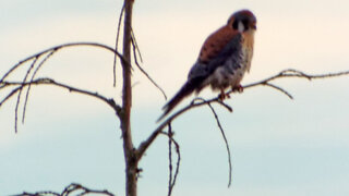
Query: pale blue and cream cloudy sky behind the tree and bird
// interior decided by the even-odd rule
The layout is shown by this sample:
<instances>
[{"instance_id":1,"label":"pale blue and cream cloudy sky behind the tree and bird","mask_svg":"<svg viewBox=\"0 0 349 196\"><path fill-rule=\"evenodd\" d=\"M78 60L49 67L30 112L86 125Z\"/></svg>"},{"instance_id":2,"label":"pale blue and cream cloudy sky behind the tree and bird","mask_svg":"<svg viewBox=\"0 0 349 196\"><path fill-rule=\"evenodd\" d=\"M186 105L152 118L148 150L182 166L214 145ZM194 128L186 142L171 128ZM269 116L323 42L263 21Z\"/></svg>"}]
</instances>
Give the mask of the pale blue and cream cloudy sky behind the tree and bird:
<instances>
[{"instance_id":1,"label":"pale blue and cream cloudy sky behind the tree and bird","mask_svg":"<svg viewBox=\"0 0 349 196\"><path fill-rule=\"evenodd\" d=\"M121 0L13 0L0 2L0 75L51 46L95 41L115 46ZM346 0L135 1L133 28L142 66L171 97L186 78L205 38L231 13L257 17L252 69L242 84L285 69L310 74L349 70L349 2ZM57 52L38 76L49 76L120 101L121 69L112 87L113 56L95 48ZM26 64L26 68L29 64ZM11 79L22 79L25 68ZM132 128L137 146L153 130L165 99L135 69ZM349 194L349 76L274 82L294 100L266 87L245 89L215 106L232 151L227 188L227 151L206 107L173 124L181 164L173 195ZM0 98L5 96L0 93ZM217 96L204 90L200 96ZM180 107L190 102L183 101ZM61 192L72 182L124 195L119 121L100 101L55 87L32 89L25 122L14 133L16 98L0 108L0 195ZM21 106L23 107L23 106ZM179 107L179 108L180 108ZM158 137L140 167L140 195L166 195L168 142Z\"/></svg>"}]
</instances>

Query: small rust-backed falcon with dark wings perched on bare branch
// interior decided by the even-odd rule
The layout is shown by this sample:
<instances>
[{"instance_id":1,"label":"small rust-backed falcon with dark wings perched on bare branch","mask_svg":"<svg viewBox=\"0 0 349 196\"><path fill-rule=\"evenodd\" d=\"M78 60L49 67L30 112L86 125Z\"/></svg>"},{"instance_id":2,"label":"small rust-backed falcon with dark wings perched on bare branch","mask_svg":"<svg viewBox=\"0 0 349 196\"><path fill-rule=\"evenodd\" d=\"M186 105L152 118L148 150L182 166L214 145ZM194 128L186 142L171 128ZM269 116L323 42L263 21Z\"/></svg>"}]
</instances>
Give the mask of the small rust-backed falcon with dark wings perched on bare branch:
<instances>
[{"instance_id":1,"label":"small rust-backed falcon with dark wings perched on bare branch","mask_svg":"<svg viewBox=\"0 0 349 196\"><path fill-rule=\"evenodd\" d=\"M251 68L255 30L254 14L241 10L229 17L227 25L209 35L189 72L186 83L163 108L165 112L159 120L183 98L193 91L198 94L206 86L220 90L220 99L225 99L228 87L240 90L240 82Z\"/></svg>"}]
</instances>

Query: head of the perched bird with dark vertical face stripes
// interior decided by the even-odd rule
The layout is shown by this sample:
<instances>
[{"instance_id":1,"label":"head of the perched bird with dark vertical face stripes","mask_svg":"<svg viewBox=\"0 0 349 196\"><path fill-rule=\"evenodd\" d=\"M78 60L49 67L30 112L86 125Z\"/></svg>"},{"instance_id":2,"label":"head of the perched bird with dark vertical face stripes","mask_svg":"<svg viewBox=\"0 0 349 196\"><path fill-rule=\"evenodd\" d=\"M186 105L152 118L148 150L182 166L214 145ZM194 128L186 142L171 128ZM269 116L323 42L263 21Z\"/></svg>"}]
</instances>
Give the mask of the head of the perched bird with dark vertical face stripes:
<instances>
[{"instance_id":1,"label":"head of the perched bird with dark vertical face stripes","mask_svg":"<svg viewBox=\"0 0 349 196\"><path fill-rule=\"evenodd\" d=\"M228 20L228 25L240 33L255 32L256 22L254 14L250 10L234 12Z\"/></svg>"}]
</instances>

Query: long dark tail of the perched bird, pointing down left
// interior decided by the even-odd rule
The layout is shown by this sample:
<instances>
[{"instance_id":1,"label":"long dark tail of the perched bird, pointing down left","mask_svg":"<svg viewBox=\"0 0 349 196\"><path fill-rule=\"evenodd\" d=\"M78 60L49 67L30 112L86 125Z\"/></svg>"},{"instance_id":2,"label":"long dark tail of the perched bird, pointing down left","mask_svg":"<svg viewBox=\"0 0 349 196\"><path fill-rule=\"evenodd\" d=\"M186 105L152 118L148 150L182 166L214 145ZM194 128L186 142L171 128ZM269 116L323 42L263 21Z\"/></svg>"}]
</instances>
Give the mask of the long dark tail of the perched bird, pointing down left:
<instances>
[{"instance_id":1,"label":"long dark tail of the perched bird, pointing down left","mask_svg":"<svg viewBox=\"0 0 349 196\"><path fill-rule=\"evenodd\" d=\"M168 101L163 110L164 113L163 115L157 120L159 122L161 119L164 119L172 109L181 102L181 100L188 96L190 96L200 85L201 85L202 79L191 79L188 81L182 88L176 94L176 96Z\"/></svg>"}]
</instances>

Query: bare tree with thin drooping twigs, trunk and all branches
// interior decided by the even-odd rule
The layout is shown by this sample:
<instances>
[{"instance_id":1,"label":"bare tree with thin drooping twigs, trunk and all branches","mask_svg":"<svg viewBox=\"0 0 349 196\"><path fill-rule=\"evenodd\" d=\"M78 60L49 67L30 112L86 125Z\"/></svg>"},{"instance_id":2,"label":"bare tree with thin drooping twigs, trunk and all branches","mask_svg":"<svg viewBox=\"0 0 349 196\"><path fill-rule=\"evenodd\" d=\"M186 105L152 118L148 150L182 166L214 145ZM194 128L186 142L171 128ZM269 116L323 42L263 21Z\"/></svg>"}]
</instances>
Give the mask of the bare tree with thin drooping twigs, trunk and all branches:
<instances>
[{"instance_id":1,"label":"bare tree with thin drooping twigs, trunk and all branches","mask_svg":"<svg viewBox=\"0 0 349 196\"><path fill-rule=\"evenodd\" d=\"M217 122L217 126L221 131L224 140L226 143L227 152L228 152L228 163L229 163L229 181L228 186L231 183L231 160L230 160L230 149L228 142L225 136L224 128L219 122L219 118L215 111L215 109L212 107L213 103L218 103L218 106L221 106L222 108L227 109L228 111L232 112L232 108L228 106L227 103L222 102L218 97L213 97L210 99L203 99L203 98L194 98L188 106L183 107L182 109L178 110L173 114L169 115L165 121L163 121L160 124L158 124L157 127L154 128L152 134L145 138L139 146L135 146L132 140L132 127L131 127L131 110L132 110L132 58L133 58L133 64L141 70L143 74L145 74L151 82L159 88L159 86L152 79L152 77L140 66L139 64L139 58L142 60L141 53L139 51L135 36L132 30L132 8L133 8L134 0L124 0L123 8L120 13L119 19L119 26L118 26L118 34L117 34L117 44L116 47L109 47L106 45L97 44L97 42L71 42L60 46L55 46L52 48L46 49L41 52L35 53L22 61L20 61L17 64L15 64L11 70L9 70L4 75L0 78L0 90L10 89L9 93L3 97L2 100L0 100L0 108L3 103L5 103L11 98L15 97L17 98L16 106L15 106L15 132L17 132L17 121L19 121L19 113L20 113L20 102L23 100L22 97L24 97L24 109L23 109L23 118L25 117L25 109L28 100L28 95L31 93L31 88L33 86L39 86L39 85L51 85L55 87L60 87L69 90L70 93L76 93L84 96L91 96L95 98L96 100L103 101L106 103L106 106L112 108L116 112L116 115L118 117L120 121L120 130L122 133L122 140L123 140L123 155L124 155L124 161L125 161L125 193L128 196L136 196L137 195L137 177L140 172L142 171L139 168L139 163L142 160L143 156L147 151L148 147L154 143L154 140L160 135L164 134L168 137L169 142L169 182L168 182L168 195L171 195L172 188L176 184L177 174L179 172L180 167L180 146L173 138L172 127L171 123L177 118L179 118L184 112L203 107L208 106L214 114L214 118ZM122 52L118 51L118 40L120 35L120 24L123 20L123 33L122 33ZM115 66L117 60L120 60L121 68L122 68L122 100L120 103L116 102L112 98L108 98L104 95L100 95L98 93L91 91L88 89L82 89L79 87L74 87L70 84L64 84L61 82L57 82L53 78L49 77L36 77L39 70L45 65L45 62L51 58L55 53L57 53L60 50L63 50L69 47L96 47L105 49L106 51L112 52L116 57ZM9 81L8 77L13 74L17 68L24 66L26 62L31 62L29 68L27 69L27 72L23 79L19 81ZM116 69L113 69L116 70ZM316 78L328 78L328 77L335 77L340 75L348 75L349 71L345 72L337 72L337 73L327 73L327 74L320 74L320 75L313 75L313 74L306 74L304 72L298 71L298 70L284 70L279 73L252 83L244 85L243 88L252 88L256 86L266 86L270 87L273 89L276 89L290 99L292 99L292 96L289 91L284 89L282 87L276 85L275 82L279 78L285 77L294 77L294 78L305 78L305 79L316 79ZM115 74L116 75L116 74ZM116 76L115 76L116 79ZM164 93L161 88L159 88ZM25 93L25 96L22 96L22 94ZM233 94L234 91L228 91L227 94ZM164 93L165 95L165 93ZM166 97L166 95L165 95ZM174 146L176 154L177 154L177 163L176 163L176 170L173 170L172 166L172 148ZM76 191L80 191L82 194L89 194L89 193L98 193L104 195L113 195L107 191L93 191L89 188L86 188L80 184L70 184L64 188L62 193L53 193L53 192L37 192L35 194L29 193L23 193L20 195L69 195L72 193L75 193Z\"/></svg>"}]
</instances>

